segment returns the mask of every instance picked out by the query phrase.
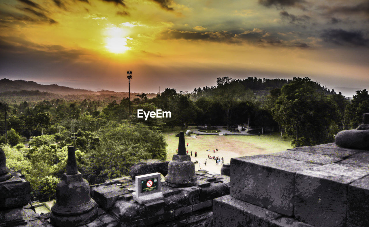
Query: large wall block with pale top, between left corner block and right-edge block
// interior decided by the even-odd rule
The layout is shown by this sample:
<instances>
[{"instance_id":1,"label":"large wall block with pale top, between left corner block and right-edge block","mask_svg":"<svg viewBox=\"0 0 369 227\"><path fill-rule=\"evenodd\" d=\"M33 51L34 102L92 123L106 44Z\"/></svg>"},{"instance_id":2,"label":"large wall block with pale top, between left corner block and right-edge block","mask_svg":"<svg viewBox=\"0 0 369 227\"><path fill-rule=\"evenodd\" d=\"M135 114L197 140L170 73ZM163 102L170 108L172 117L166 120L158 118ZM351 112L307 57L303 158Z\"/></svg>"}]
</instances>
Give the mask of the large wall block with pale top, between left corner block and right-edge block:
<instances>
[{"instance_id":1,"label":"large wall block with pale top, between left corner block and right-edge block","mask_svg":"<svg viewBox=\"0 0 369 227\"><path fill-rule=\"evenodd\" d=\"M297 172L294 215L313 226L345 226L348 184L368 174L337 163Z\"/></svg>"}]
</instances>

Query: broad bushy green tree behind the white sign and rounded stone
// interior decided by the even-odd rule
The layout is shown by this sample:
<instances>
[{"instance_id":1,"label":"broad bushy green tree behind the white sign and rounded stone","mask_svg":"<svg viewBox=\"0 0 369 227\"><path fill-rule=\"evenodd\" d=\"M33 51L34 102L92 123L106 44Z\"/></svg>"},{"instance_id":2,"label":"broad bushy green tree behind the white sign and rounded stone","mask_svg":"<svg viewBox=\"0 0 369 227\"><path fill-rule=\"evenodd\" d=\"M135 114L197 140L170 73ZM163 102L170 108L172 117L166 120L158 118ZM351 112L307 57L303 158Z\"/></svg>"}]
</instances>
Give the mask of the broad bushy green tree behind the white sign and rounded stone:
<instances>
[{"instance_id":1,"label":"broad bushy green tree behind the white sign and rounded stone","mask_svg":"<svg viewBox=\"0 0 369 227\"><path fill-rule=\"evenodd\" d=\"M146 158L165 160L166 142L160 131L143 123L110 124L99 131L100 144L89 151L87 177L91 182L127 175L132 165Z\"/></svg>"}]
</instances>

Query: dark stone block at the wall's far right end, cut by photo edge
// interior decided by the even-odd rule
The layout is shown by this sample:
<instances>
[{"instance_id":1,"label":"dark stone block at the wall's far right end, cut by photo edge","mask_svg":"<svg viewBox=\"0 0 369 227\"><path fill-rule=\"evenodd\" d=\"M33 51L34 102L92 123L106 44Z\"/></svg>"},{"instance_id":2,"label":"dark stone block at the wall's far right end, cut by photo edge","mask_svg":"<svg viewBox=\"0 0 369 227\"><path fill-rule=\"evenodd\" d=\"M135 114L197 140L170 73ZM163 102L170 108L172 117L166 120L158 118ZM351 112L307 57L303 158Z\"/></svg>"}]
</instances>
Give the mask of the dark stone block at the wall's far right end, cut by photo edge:
<instances>
[{"instance_id":1,"label":"dark stone block at the wall's far right end, cut by photo edge","mask_svg":"<svg viewBox=\"0 0 369 227\"><path fill-rule=\"evenodd\" d=\"M369 176L348 186L347 226L369 226Z\"/></svg>"}]
</instances>

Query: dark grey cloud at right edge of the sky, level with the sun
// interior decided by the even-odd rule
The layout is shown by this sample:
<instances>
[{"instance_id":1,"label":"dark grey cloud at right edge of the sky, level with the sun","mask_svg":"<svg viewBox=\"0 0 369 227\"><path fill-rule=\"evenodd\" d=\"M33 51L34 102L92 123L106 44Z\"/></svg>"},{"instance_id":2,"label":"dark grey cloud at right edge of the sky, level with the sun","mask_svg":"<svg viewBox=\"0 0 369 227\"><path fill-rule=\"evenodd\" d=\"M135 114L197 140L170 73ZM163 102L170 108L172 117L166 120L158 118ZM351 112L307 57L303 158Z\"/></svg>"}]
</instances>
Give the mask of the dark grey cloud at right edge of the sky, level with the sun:
<instances>
[{"instance_id":1,"label":"dark grey cloud at right edge of the sky, level with the sun","mask_svg":"<svg viewBox=\"0 0 369 227\"><path fill-rule=\"evenodd\" d=\"M345 31L343 29L324 30L321 37L325 42L348 46L369 46L369 39L362 31Z\"/></svg>"}]
</instances>

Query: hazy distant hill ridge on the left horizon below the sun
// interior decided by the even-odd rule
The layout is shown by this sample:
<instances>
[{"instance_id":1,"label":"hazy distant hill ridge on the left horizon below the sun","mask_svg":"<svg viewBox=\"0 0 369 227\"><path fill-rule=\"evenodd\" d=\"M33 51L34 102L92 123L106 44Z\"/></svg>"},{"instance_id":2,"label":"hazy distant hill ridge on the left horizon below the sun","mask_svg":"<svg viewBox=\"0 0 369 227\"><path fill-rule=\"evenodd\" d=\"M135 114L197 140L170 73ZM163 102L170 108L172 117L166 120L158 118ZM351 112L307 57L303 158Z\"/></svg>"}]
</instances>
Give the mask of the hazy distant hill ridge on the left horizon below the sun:
<instances>
[{"instance_id":1,"label":"hazy distant hill ridge on the left horizon below the sun","mask_svg":"<svg viewBox=\"0 0 369 227\"><path fill-rule=\"evenodd\" d=\"M31 92L32 91L32 92ZM136 95L141 94L131 92L131 100L137 98ZM59 86L57 84L43 85L34 81L25 80L0 80L0 96L3 99L15 101L19 100L17 97L28 97L29 101L43 100L43 99L57 99L64 98L67 100L80 99L94 99L94 100L120 100L129 96L128 92L115 92L108 90L90 91L79 88L70 88ZM31 98L33 97L33 98ZM148 98L156 97L155 93L147 94Z\"/></svg>"}]
</instances>

